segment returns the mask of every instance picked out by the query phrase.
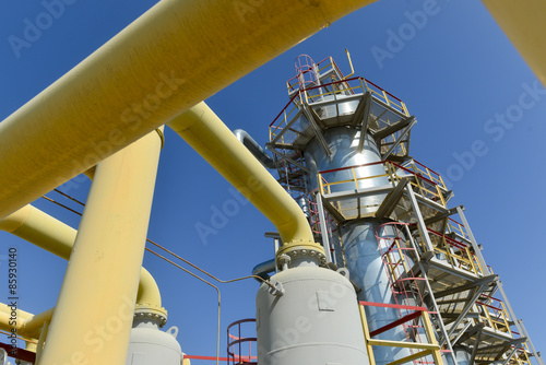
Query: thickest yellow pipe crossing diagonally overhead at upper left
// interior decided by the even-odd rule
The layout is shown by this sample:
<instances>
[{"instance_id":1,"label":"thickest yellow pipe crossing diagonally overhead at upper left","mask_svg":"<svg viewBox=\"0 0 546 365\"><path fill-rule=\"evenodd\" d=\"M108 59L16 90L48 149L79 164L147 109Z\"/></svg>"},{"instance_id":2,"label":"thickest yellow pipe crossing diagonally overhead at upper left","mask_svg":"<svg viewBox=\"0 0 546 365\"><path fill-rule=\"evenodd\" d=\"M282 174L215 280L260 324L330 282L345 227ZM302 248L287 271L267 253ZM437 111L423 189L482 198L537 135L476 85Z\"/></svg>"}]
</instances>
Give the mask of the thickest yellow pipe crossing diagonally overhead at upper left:
<instances>
[{"instance_id":1,"label":"thickest yellow pipe crossing diagonally overhead at upper left","mask_svg":"<svg viewBox=\"0 0 546 365\"><path fill-rule=\"evenodd\" d=\"M164 0L0 123L0 217L375 0Z\"/></svg>"}]
</instances>

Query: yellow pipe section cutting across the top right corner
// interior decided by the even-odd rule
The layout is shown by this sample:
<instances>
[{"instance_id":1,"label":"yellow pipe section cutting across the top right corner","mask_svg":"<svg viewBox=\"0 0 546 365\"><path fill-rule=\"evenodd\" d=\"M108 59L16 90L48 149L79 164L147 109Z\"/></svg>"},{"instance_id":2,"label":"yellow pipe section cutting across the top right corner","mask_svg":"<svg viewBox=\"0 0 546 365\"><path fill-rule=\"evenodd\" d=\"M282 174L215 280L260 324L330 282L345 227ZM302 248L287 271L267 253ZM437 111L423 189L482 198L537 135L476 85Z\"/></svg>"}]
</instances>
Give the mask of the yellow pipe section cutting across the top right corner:
<instances>
[{"instance_id":1,"label":"yellow pipe section cutting across the top right corner","mask_svg":"<svg viewBox=\"0 0 546 365\"><path fill-rule=\"evenodd\" d=\"M508 38L546 86L546 2L544 0L482 0Z\"/></svg>"}]
</instances>

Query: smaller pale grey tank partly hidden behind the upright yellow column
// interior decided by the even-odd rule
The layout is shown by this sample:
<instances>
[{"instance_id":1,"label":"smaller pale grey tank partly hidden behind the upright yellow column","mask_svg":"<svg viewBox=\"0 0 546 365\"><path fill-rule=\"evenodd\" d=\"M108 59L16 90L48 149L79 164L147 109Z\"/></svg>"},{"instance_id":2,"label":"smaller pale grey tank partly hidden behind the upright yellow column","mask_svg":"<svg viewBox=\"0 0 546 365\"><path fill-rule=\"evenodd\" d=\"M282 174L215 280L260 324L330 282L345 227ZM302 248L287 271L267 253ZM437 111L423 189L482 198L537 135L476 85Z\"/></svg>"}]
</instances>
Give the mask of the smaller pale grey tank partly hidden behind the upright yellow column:
<instances>
[{"instance_id":1,"label":"smaller pale grey tank partly hidden behind the upright yellow column","mask_svg":"<svg viewBox=\"0 0 546 365\"><path fill-rule=\"evenodd\" d=\"M152 320L136 319L131 329L127 365L180 365L182 350L176 340L178 328L166 332ZM185 363L186 364L186 363Z\"/></svg>"}]
</instances>

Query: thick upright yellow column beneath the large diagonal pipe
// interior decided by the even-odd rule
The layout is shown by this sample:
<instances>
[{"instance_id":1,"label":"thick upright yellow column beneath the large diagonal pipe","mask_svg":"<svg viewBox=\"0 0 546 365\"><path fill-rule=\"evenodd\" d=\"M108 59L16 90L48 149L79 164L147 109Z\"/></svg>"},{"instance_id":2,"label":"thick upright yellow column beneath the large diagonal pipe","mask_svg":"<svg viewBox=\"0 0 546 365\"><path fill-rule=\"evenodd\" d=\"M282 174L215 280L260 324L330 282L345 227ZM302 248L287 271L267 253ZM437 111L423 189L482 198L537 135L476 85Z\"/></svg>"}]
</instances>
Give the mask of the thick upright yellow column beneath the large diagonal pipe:
<instances>
[{"instance_id":1,"label":"thick upright yellow column beneath the large diagonal pipe","mask_svg":"<svg viewBox=\"0 0 546 365\"><path fill-rule=\"evenodd\" d=\"M159 150L153 131L98 164L40 365L126 364Z\"/></svg>"}]
</instances>

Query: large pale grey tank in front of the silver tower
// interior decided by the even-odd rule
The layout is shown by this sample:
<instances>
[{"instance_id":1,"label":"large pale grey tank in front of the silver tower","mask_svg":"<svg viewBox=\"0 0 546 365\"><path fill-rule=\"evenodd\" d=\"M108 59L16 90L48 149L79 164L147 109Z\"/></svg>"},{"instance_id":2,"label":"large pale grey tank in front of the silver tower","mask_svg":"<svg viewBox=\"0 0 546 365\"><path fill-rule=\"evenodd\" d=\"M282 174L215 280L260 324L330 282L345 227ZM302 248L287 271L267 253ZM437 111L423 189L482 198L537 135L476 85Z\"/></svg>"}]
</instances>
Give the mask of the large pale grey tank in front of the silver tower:
<instances>
[{"instance_id":1,"label":"large pale grey tank in front of the silver tower","mask_svg":"<svg viewBox=\"0 0 546 365\"><path fill-rule=\"evenodd\" d=\"M356 294L335 271L298 267L275 274L283 295L265 284L257 295L260 365L369 364Z\"/></svg>"}]
</instances>

